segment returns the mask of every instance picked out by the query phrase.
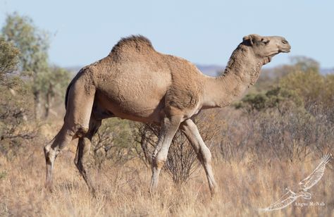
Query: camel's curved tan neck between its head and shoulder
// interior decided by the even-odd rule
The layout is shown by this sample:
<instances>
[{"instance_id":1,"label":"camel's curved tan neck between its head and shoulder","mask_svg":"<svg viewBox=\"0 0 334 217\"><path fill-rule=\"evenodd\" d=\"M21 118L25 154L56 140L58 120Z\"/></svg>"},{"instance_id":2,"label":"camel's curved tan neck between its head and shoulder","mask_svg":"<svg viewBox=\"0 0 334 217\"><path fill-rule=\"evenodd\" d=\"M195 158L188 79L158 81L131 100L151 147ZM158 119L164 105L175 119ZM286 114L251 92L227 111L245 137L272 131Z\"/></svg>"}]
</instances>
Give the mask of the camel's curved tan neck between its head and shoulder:
<instances>
[{"instance_id":1,"label":"camel's curved tan neck between its head and shoulder","mask_svg":"<svg viewBox=\"0 0 334 217\"><path fill-rule=\"evenodd\" d=\"M228 106L259 78L264 61L240 44L219 77L206 77L203 109Z\"/></svg>"}]
</instances>

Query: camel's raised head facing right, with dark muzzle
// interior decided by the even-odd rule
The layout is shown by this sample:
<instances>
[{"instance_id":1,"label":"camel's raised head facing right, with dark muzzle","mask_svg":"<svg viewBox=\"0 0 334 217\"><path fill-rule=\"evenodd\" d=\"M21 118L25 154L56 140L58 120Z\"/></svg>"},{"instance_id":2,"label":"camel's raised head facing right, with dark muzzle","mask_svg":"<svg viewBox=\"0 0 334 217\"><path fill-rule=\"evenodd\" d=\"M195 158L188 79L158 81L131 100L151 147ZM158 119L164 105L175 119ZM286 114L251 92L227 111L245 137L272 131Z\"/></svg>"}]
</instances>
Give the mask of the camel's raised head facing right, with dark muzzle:
<instances>
[{"instance_id":1,"label":"camel's raised head facing right, with dark muzzle","mask_svg":"<svg viewBox=\"0 0 334 217\"><path fill-rule=\"evenodd\" d=\"M266 63L271 61L271 58L276 54L288 53L291 49L289 42L280 36L247 35L243 38L242 44L251 47L254 55L264 58Z\"/></svg>"}]
</instances>

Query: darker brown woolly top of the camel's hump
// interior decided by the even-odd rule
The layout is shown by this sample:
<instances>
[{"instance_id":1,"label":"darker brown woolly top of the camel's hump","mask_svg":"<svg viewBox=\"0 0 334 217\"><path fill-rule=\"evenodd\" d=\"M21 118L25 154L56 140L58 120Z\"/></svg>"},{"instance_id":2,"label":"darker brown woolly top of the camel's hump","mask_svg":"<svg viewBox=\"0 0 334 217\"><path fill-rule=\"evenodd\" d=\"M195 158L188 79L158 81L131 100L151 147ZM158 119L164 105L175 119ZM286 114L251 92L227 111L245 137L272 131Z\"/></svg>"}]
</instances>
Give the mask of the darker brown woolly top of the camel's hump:
<instances>
[{"instance_id":1,"label":"darker brown woolly top of the camel's hump","mask_svg":"<svg viewBox=\"0 0 334 217\"><path fill-rule=\"evenodd\" d=\"M111 53L117 53L118 51L122 51L125 48L134 48L140 49L142 47L147 47L150 49L154 49L151 41L142 35L131 35L129 37L121 38L118 43L113 46L111 49Z\"/></svg>"}]
</instances>

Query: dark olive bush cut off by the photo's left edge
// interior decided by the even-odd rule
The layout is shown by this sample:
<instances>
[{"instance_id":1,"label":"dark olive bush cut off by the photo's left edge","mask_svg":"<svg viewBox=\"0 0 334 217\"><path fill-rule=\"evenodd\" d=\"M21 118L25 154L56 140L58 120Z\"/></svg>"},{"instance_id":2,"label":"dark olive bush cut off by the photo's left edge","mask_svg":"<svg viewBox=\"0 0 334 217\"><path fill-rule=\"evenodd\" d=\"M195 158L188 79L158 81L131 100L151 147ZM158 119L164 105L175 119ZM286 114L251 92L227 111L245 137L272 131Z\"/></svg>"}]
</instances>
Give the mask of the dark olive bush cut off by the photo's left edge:
<instances>
[{"instance_id":1,"label":"dark olive bush cut off by the photo's left edge","mask_svg":"<svg viewBox=\"0 0 334 217\"><path fill-rule=\"evenodd\" d=\"M30 117L30 94L20 77L13 72L18 63L18 49L0 37L0 152L10 157L23 142L36 135L27 128Z\"/></svg>"}]
</instances>

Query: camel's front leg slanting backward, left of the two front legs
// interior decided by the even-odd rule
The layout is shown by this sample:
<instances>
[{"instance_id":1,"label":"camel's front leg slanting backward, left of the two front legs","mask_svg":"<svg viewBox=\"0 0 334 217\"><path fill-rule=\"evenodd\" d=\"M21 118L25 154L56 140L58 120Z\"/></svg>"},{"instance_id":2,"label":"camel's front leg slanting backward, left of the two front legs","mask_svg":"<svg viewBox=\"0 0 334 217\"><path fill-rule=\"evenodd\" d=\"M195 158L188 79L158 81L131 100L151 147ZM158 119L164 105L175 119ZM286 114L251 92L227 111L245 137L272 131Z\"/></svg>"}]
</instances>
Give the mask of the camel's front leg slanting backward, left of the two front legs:
<instances>
[{"instance_id":1,"label":"camel's front leg slanting backward, left of the two front legs","mask_svg":"<svg viewBox=\"0 0 334 217\"><path fill-rule=\"evenodd\" d=\"M156 187L158 186L159 173L163 164L167 160L168 149L171 146L176 130L178 130L178 127L180 126L180 120L180 116L171 116L171 118L166 117L161 124L158 144L156 144L152 156L152 178L151 186L149 188L151 193L155 192Z\"/></svg>"}]
</instances>

